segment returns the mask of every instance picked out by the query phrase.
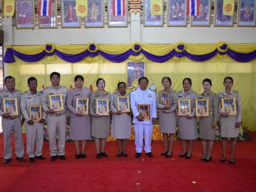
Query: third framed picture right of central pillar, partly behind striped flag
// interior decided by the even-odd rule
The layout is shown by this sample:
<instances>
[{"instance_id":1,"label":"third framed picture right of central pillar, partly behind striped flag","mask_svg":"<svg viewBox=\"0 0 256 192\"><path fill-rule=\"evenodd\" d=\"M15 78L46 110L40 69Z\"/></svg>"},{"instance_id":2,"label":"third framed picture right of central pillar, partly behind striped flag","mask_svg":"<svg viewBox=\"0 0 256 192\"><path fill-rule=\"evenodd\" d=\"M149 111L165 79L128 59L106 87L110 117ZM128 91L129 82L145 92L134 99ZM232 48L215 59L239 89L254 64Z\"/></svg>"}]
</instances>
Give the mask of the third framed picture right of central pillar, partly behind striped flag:
<instances>
[{"instance_id":1,"label":"third framed picture right of central pillar, partly behind striped flag","mask_svg":"<svg viewBox=\"0 0 256 192\"><path fill-rule=\"evenodd\" d=\"M199 15L191 16L191 26L210 27L211 1L199 0Z\"/></svg>"}]
</instances>

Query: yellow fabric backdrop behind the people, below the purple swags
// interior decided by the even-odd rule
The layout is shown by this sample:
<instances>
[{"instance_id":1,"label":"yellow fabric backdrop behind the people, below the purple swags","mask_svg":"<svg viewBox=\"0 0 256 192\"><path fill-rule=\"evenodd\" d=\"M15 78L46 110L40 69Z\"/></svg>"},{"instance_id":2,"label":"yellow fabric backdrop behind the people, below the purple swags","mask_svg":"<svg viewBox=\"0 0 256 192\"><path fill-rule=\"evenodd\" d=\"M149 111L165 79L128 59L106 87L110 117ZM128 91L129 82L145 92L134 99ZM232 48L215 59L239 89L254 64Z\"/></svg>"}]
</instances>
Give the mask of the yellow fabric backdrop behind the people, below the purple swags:
<instances>
[{"instance_id":1,"label":"yellow fabric backdrop behind the people, below the purple swags","mask_svg":"<svg viewBox=\"0 0 256 192\"><path fill-rule=\"evenodd\" d=\"M15 47L15 50L17 51L22 50L22 46L12 47ZM33 49L33 46L30 46L29 49ZM214 49L212 48L212 50ZM243 45L241 45L241 50L243 51ZM255 45L253 45L253 48L247 52L254 50ZM139 58L137 58L137 60L138 59ZM97 55L97 59L94 61L90 61L90 59L82 59L81 61L74 63L66 62L56 56L55 60L44 57L37 62L25 62L15 56L14 60L15 62L7 64L9 71L8 75L12 75L16 78L16 87L22 92L28 90L27 79L30 76L37 78L38 90L41 90L43 84L45 86L51 84L50 74L53 71L58 71L61 74L60 83L62 85L69 87L72 82L74 86L74 77L76 75L83 75L85 78L84 86L89 87L92 83L93 90L96 90L97 87L95 82L97 78L101 77L105 79L106 90L110 93L115 91L118 81L126 81L126 61L132 61L128 58L123 62L114 63L103 58L102 55ZM138 61L146 61L146 76L150 81L149 86L151 82L154 81L157 91L162 89L161 80L164 76L169 76L172 79L171 87L175 91L180 91L182 89L183 78L190 77L193 83L192 89L198 94L203 91L202 81L204 78L210 78L213 83L212 91L219 93L224 89L223 78L226 76L233 77L233 89L239 91L242 99L243 124L247 125L250 131L256 131L255 59L249 62L238 62L230 57L222 57L220 59L220 57L215 55L204 62L196 62L187 57L182 57L182 59L178 60L170 59L162 63L153 62L147 57L141 57Z\"/></svg>"}]
</instances>

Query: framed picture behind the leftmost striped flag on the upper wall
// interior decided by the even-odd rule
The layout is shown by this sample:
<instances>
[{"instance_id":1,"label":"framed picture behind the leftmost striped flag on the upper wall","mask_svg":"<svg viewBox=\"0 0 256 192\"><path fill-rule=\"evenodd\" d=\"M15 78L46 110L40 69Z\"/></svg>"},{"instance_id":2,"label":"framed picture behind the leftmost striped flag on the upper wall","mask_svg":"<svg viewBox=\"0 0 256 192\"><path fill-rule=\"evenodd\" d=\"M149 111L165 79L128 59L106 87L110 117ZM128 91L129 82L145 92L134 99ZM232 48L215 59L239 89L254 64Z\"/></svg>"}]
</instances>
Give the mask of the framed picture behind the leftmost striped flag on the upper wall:
<instances>
[{"instance_id":1,"label":"framed picture behind the leftmost striped flag on the upper wall","mask_svg":"<svg viewBox=\"0 0 256 192\"><path fill-rule=\"evenodd\" d=\"M43 1L43 0L42 0ZM39 0L37 5L39 5ZM38 7L39 9L39 7ZM43 7L42 7L43 9ZM41 10L43 12L43 10ZM38 11L38 27L39 28L57 28L57 0L51 0L51 14L50 15L39 15Z\"/></svg>"}]
</instances>

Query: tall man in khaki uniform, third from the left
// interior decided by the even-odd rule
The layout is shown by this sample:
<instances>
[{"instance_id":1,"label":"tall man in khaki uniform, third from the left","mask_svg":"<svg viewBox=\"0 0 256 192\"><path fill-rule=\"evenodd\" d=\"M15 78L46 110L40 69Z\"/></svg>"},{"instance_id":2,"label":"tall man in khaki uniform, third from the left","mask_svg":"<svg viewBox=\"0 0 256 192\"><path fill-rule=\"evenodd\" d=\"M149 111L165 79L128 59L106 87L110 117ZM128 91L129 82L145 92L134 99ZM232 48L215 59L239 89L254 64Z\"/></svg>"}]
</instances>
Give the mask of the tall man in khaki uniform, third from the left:
<instances>
[{"instance_id":1,"label":"tall man in khaki uniform, third from the left","mask_svg":"<svg viewBox=\"0 0 256 192\"><path fill-rule=\"evenodd\" d=\"M60 85L60 74L53 72L50 75L52 85L43 91L43 110L47 113L46 123L49 133L49 147L51 161L55 161L57 156L61 160L66 160L65 157L65 137L66 137L66 97L68 89ZM62 94L63 110L55 111L50 108L49 95ZM56 146L56 137L58 136L58 149Z\"/></svg>"}]
</instances>

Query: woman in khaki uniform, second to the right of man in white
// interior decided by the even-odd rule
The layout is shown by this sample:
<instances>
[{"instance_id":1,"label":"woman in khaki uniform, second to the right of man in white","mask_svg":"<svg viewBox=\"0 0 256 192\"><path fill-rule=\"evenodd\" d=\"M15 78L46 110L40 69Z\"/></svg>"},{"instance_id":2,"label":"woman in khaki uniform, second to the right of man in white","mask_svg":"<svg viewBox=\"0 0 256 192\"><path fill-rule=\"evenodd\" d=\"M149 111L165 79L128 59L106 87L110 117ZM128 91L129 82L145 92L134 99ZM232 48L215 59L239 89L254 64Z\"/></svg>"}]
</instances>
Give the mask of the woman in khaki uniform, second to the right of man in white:
<instances>
[{"instance_id":1,"label":"woman in khaki uniform, second to the right of man in white","mask_svg":"<svg viewBox=\"0 0 256 192\"><path fill-rule=\"evenodd\" d=\"M179 157L185 157L190 159L192 156L192 149L194 145L194 140L198 137L197 133L197 118L196 114L196 99L198 98L196 92L192 91L191 85L192 81L190 78L183 79L184 90L178 93L178 99L190 99L191 114L186 116L180 116L178 118L178 135L182 143L182 154ZM179 116L179 113L177 113ZM189 142L189 149L187 151L187 141Z\"/></svg>"}]
</instances>

